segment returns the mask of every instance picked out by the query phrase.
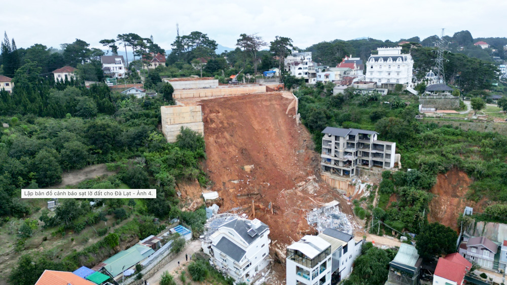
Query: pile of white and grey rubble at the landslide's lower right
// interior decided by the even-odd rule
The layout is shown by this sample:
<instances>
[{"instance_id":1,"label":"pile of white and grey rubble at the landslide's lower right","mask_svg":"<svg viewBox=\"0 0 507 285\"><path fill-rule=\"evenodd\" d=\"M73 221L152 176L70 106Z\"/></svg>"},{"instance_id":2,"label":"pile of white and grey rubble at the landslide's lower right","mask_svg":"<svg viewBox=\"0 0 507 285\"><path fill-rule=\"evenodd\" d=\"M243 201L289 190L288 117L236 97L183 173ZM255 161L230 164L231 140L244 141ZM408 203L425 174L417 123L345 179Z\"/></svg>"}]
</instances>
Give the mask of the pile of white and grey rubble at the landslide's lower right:
<instances>
[{"instance_id":1,"label":"pile of white and grey rubble at the landslide's lower right","mask_svg":"<svg viewBox=\"0 0 507 285\"><path fill-rule=\"evenodd\" d=\"M340 211L337 203L328 203L321 208L313 209L306 214L306 220L308 225L315 225L319 233L331 228L352 234L353 226L347 215Z\"/></svg>"}]
</instances>

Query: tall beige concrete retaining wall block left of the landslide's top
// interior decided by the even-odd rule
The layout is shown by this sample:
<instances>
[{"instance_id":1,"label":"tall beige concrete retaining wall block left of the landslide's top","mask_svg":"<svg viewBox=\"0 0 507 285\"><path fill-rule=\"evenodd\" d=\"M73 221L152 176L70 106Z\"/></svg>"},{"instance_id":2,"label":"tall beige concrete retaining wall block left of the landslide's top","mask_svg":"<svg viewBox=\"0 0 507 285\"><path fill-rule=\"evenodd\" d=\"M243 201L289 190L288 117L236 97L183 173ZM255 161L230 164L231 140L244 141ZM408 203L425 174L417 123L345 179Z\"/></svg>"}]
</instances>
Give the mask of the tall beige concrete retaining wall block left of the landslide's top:
<instances>
[{"instance_id":1,"label":"tall beige concrete retaining wall block left of the landslide's top","mask_svg":"<svg viewBox=\"0 0 507 285\"><path fill-rule=\"evenodd\" d=\"M162 133L167 142L176 141L176 136L182 127L190 128L204 135L201 106L161 106Z\"/></svg>"}]
</instances>

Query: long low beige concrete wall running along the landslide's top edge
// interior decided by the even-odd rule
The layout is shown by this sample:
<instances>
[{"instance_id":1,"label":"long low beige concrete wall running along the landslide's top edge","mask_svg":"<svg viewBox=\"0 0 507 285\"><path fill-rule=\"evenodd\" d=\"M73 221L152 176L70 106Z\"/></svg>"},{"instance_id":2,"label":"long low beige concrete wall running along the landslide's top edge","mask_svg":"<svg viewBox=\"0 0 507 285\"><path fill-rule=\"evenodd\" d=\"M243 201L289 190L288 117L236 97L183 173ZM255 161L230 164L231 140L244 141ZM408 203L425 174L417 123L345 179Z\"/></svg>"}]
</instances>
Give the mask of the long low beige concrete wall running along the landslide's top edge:
<instances>
[{"instance_id":1,"label":"long low beige concrete wall running along the landslide's top edge","mask_svg":"<svg viewBox=\"0 0 507 285\"><path fill-rule=\"evenodd\" d=\"M172 84L172 83L171 83ZM176 89L176 88L174 88ZM174 90L172 97L174 99L184 98L202 98L202 97L216 97L225 95L245 95L251 93L266 92L265 85L248 85L248 86L225 86L223 88L208 88L208 89L183 89Z\"/></svg>"}]
</instances>

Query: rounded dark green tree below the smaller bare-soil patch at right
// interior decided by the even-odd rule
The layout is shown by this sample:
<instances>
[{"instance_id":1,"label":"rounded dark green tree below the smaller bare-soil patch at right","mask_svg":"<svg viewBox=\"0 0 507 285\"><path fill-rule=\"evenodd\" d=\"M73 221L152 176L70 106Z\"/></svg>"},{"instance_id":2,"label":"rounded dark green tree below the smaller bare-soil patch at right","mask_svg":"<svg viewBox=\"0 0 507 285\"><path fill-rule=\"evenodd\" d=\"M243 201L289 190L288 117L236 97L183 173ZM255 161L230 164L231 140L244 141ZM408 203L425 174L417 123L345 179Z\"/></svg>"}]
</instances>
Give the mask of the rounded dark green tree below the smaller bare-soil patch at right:
<instances>
[{"instance_id":1,"label":"rounded dark green tree below the smaller bare-soil patch at right","mask_svg":"<svg viewBox=\"0 0 507 285\"><path fill-rule=\"evenodd\" d=\"M416 236L419 256L431 261L440 256L456 252L458 234L439 223L428 224Z\"/></svg>"}]
</instances>

